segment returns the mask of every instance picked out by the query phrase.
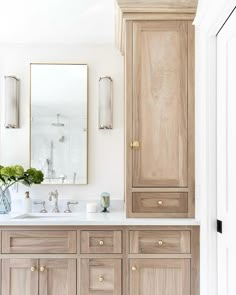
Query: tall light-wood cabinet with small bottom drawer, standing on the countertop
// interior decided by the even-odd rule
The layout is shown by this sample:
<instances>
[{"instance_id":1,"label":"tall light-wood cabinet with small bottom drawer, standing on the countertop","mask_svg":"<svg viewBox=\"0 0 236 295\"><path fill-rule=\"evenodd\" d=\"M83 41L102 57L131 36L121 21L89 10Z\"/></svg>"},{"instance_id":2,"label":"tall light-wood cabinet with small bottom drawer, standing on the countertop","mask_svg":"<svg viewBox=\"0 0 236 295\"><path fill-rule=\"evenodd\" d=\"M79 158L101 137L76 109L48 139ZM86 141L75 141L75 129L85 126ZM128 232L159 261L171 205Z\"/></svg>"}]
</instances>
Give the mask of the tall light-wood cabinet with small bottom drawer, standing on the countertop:
<instances>
[{"instance_id":1,"label":"tall light-wood cabinet with small bottom drawer, standing on the countertop","mask_svg":"<svg viewBox=\"0 0 236 295\"><path fill-rule=\"evenodd\" d=\"M128 217L194 217L196 1L118 0Z\"/></svg>"}]
</instances>

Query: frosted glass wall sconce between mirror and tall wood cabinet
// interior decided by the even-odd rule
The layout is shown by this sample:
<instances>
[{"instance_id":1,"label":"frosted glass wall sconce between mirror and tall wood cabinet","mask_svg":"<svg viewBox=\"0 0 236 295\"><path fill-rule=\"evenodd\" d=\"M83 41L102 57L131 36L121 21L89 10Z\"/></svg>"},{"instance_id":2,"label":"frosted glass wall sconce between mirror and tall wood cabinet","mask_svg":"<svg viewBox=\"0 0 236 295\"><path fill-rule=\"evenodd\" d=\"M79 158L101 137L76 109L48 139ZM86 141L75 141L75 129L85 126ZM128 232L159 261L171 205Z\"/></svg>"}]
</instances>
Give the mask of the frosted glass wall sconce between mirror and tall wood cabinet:
<instances>
[{"instance_id":1,"label":"frosted glass wall sconce between mirror and tall wood cabinet","mask_svg":"<svg viewBox=\"0 0 236 295\"><path fill-rule=\"evenodd\" d=\"M113 120L112 79L104 76L99 79L99 129L112 129Z\"/></svg>"}]
</instances>

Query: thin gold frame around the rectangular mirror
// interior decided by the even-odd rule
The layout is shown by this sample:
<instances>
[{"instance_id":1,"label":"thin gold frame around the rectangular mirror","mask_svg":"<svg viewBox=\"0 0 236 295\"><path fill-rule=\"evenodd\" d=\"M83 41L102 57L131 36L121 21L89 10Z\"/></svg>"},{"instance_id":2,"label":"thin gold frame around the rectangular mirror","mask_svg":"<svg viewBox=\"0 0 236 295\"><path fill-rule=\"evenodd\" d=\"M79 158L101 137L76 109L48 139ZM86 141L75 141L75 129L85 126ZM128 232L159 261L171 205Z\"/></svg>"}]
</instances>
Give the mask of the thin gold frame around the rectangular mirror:
<instances>
[{"instance_id":1,"label":"thin gold frame around the rectangular mirror","mask_svg":"<svg viewBox=\"0 0 236 295\"><path fill-rule=\"evenodd\" d=\"M29 167L31 167L31 134L32 134L32 91L31 91L31 77L32 77L32 65L83 65L87 67L87 122L86 122L86 128L87 128L87 140L86 140L86 163L87 163L87 169L86 169L86 183L44 183L42 182L42 185L88 185L88 170L89 170L89 159L88 159L88 144L89 144L89 67L86 63L71 63L71 62L31 62L30 63L30 98L29 98Z\"/></svg>"}]
</instances>

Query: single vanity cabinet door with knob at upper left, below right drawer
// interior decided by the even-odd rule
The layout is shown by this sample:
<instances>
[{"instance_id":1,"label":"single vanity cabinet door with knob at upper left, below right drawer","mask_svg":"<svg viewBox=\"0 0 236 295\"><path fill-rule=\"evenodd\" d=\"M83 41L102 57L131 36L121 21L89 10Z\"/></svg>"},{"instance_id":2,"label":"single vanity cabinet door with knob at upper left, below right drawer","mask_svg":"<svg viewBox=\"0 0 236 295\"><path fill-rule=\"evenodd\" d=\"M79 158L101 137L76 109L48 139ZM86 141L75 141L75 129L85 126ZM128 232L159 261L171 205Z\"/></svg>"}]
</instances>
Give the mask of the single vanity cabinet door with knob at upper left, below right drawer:
<instances>
[{"instance_id":1,"label":"single vanity cabinet door with knob at upper left, below right drawer","mask_svg":"<svg viewBox=\"0 0 236 295\"><path fill-rule=\"evenodd\" d=\"M131 259L130 295L147 294L190 295L190 260Z\"/></svg>"}]
</instances>

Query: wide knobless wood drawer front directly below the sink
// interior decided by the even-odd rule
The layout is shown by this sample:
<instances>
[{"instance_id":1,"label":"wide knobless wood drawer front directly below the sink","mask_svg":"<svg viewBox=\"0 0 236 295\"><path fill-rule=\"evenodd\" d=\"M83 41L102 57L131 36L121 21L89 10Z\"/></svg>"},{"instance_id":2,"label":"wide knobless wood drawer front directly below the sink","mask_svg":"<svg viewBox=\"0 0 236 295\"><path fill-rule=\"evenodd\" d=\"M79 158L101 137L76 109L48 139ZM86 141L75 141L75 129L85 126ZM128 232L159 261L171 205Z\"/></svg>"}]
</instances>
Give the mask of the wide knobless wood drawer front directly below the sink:
<instances>
[{"instance_id":1,"label":"wide knobless wood drawer front directly below the sink","mask_svg":"<svg viewBox=\"0 0 236 295\"><path fill-rule=\"evenodd\" d=\"M76 253L76 231L3 231L2 253Z\"/></svg>"}]
</instances>

